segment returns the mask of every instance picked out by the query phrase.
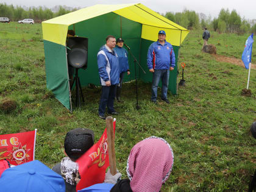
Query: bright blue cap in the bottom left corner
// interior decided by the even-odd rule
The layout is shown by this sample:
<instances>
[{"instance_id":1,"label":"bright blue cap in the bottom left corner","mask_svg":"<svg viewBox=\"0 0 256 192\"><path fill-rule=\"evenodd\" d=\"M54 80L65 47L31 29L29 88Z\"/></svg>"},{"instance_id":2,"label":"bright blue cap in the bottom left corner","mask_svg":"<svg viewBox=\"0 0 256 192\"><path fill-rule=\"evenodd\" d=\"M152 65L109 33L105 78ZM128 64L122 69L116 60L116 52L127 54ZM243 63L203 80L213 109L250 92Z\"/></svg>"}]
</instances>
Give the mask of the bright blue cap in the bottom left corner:
<instances>
[{"instance_id":1,"label":"bright blue cap in the bottom left corner","mask_svg":"<svg viewBox=\"0 0 256 192\"><path fill-rule=\"evenodd\" d=\"M1 191L65 192L59 174L38 160L6 169L0 179Z\"/></svg>"}]
</instances>

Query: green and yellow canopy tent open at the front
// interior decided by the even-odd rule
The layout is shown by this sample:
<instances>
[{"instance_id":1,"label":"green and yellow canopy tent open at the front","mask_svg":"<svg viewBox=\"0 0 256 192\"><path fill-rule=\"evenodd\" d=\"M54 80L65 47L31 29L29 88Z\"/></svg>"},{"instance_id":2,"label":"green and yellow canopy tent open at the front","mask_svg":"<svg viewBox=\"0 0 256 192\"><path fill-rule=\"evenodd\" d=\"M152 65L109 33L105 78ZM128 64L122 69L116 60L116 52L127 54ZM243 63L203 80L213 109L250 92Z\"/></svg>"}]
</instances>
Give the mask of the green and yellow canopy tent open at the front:
<instances>
[{"instance_id":1,"label":"green and yellow canopy tent open at the front","mask_svg":"<svg viewBox=\"0 0 256 192\"><path fill-rule=\"evenodd\" d=\"M144 71L148 71L146 58L149 45L157 40L159 30L165 30L166 40L174 46L176 67L170 73L169 90L177 94L177 61L180 44L189 30L159 15L143 4L94 5L66 15L44 21L43 40L46 63L47 88L54 93L66 108L72 111L71 90L69 87L68 61L66 55L66 36L73 29L78 37L88 38L87 69L79 69L82 86L100 85L97 53L105 44L107 35L122 37L137 57ZM135 67L129 57L131 77L134 79ZM137 66L137 77L143 82L151 82L151 73L141 73Z\"/></svg>"}]
</instances>

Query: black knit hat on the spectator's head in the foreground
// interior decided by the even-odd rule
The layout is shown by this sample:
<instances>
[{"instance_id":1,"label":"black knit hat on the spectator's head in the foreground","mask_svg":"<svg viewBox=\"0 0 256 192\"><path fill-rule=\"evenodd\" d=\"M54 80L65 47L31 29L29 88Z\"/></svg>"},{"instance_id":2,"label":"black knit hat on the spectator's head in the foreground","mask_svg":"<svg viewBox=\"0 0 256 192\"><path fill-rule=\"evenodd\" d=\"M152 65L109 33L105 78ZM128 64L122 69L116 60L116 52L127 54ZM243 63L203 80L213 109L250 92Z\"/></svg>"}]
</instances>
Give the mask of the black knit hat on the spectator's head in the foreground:
<instances>
[{"instance_id":1,"label":"black knit hat on the spectator's head in the foreground","mask_svg":"<svg viewBox=\"0 0 256 192\"><path fill-rule=\"evenodd\" d=\"M66 155L76 161L94 144L93 130L77 128L66 133L64 148Z\"/></svg>"}]
</instances>

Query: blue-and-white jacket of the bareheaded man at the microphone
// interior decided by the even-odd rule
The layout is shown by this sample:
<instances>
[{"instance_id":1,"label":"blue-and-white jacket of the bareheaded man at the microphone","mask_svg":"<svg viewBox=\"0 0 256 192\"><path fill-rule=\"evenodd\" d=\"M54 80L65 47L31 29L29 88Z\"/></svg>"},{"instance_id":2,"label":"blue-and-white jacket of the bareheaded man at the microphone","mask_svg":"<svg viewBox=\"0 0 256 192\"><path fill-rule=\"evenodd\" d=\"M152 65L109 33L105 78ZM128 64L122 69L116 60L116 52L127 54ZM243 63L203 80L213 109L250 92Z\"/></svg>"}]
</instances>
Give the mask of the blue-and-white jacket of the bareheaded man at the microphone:
<instances>
[{"instance_id":1,"label":"blue-and-white jacket of the bareheaded man at the microphone","mask_svg":"<svg viewBox=\"0 0 256 192\"><path fill-rule=\"evenodd\" d=\"M115 51L108 48L107 45L102 46L97 55L99 76L101 77L101 85L110 80L111 85L119 84L119 62L118 55Z\"/></svg>"}]
</instances>

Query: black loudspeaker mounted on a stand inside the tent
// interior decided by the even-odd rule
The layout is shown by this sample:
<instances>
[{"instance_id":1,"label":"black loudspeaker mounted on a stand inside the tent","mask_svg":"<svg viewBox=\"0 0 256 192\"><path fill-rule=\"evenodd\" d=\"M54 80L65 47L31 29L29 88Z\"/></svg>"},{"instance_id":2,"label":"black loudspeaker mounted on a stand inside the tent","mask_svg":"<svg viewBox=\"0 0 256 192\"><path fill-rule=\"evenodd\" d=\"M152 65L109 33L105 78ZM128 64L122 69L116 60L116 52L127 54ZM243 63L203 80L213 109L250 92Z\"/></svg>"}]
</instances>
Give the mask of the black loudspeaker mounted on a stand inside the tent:
<instances>
[{"instance_id":1,"label":"black loudspeaker mounted on a stand inside the tent","mask_svg":"<svg viewBox=\"0 0 256 192\"><path fill-rule=\"evenodd\" d=\"M87 68L88 38L68 37L66 42L68 50L68 65L74 68Z\"/></svg>"}]
</instances>

